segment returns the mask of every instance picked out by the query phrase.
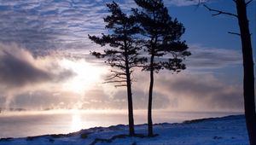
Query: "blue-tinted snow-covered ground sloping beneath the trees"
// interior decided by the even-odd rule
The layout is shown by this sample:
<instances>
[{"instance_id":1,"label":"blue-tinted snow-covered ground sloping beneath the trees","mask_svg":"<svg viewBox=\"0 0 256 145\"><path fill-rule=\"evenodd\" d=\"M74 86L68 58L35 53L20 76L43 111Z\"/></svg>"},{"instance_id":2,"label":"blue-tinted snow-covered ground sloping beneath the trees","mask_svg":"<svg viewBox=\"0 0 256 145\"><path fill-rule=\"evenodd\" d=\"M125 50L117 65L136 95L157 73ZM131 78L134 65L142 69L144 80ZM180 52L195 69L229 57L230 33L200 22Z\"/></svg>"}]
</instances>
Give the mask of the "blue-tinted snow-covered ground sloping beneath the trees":
<instances>
[{"instance_id":1,"label":"blue-tinted snow-covered ground sloping beneath the trees","mask_svg":"<svg viewBox=\"0 0 256 145\"><path fill-rule=\"evenodd\" d=\"M127 125L107 128L96 127L67 135L2 138L0 145L89 145L89 144L150 144L150 145L243 145L248 144L243 115L215 119L198 119L182 124L157 124L154 133L147 137L147 125L136 125L136 137L127 136Z\"/></svg>"}]
</instances>

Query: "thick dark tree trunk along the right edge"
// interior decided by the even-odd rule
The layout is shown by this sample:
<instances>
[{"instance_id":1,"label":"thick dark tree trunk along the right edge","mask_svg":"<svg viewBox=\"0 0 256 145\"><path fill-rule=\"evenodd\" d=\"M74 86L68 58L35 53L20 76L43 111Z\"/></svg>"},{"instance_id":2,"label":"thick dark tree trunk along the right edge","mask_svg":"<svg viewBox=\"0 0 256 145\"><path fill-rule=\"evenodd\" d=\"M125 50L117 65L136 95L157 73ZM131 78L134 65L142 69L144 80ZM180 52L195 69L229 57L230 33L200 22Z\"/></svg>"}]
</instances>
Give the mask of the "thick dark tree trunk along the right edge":
<instances>
[{"instance_id":1,"label":"thick dark tree trunk along the right edge","mask_svg":"<svg viewBox=\"0 0 256 145\"><path fill-rule=\"evenodd\" d=\"M254 98L254 73L251 34L247 20L247 5L245 0L236 0L236 10L241 33L241 48L243 57L243 96L247 123L247 132L251 145L256 145L256 113Z\"/></svg>"}]
</instances>

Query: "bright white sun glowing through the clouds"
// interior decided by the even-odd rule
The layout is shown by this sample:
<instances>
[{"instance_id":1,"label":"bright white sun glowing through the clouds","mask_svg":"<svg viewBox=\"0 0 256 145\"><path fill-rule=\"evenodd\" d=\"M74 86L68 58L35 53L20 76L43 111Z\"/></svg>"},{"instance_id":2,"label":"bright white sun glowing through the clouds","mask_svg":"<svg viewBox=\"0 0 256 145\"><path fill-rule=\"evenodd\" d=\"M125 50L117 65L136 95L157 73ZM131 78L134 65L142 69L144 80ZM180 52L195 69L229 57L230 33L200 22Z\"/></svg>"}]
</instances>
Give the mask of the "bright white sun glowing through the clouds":
<instances>
[{"instance_id":1,"label":"bright white sun glowing through the clouds","mask_svg":"<svg viewBox=\"0 0 256 145\"><path fill-rule=\"evenodd\" d=\"M106 72L103 67L93 66L85 60L61 60L61 67L73 71L74 75L62 84L63 90L71 90L83 94L94 85L102 82L102 75Z\"/></svg>"}]
</instances>

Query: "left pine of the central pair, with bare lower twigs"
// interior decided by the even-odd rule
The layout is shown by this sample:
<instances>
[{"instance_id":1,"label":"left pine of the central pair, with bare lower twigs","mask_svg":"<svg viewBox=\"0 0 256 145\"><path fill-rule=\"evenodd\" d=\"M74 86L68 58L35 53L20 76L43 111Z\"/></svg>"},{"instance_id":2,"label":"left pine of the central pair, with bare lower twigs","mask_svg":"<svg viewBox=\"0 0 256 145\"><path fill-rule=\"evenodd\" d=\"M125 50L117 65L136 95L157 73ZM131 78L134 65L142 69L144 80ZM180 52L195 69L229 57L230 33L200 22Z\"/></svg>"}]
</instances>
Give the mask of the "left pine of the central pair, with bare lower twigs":
<instances>
[{"instance_id":1,"label":"left pine of the central pair, with bare lower twigs","mask_svg":"<svg viewBox=\"0 0 256 145\"><path fill-rule=\"evenodd\" d=\"M106 58L106 63L116 68L112 70L112 75L106 83L118 83L115 86L126 86L128 98L128 117L130 136L134 136L134 120L131 94L131 73L132 68L136 67L144 58L138 58L137 40L133 38L140 31L137 26L136 18L133 15L127 15L119 8L117 3L108 3L107 7L111 15L104 18L107 23L106 28L109 34L102 34L102 37L90 36L90 40L96 44L104 46L104 52L91 52L97 58ZM112 49L107 49L110 46Z\"/></svg>"}]
</instances>

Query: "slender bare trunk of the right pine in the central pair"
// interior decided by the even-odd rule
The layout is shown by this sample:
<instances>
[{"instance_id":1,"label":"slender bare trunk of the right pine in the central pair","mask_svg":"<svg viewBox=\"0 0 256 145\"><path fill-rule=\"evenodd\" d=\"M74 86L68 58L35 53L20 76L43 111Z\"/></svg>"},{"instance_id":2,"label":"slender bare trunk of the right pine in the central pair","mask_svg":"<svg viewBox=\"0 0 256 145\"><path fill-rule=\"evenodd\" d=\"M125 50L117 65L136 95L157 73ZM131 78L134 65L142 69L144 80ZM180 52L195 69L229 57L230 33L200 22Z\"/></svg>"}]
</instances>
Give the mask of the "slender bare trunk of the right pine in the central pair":
<instances>
[{"instance_id":1,"label":"slender bare trunk of the right pine in the central pair","mask_svg":"<svg viewBox=\"0 0 256 145\"><path fill-rule=\"evenodd\" d=\"M154 55L151 55L150 60L150 84L148 91L148 136L153 136L153 123L152 123L152 96L154 86Z\"/></svg>"}]
</instances>

